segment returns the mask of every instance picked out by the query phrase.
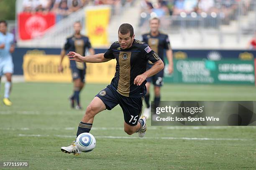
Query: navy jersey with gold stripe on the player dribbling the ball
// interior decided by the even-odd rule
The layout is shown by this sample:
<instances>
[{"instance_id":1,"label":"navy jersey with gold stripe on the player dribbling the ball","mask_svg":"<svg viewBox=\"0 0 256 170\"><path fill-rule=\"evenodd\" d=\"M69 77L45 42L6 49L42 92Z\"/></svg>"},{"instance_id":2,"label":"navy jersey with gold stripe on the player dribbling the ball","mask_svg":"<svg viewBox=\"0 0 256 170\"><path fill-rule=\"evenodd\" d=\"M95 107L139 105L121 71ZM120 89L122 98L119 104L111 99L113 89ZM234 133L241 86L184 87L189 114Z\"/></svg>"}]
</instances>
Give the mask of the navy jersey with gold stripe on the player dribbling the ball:
<instances>
[{"instance_id":1,"label":"navy jersey with gold stripe on the player dribbling the ball","mask_svg":"<svg viewBox=\"0 0 256 170\"><path fill-rule=\"evenodd\" d=\"M125 50L120 48L118 41L114 42L104 57L117 61L115 77L110 85L126 97L142 97L146 94L146 80L137 86L133 84L134 79L146 72L148 60L153 63L161 60L148 44L135 39L132 46Z\"/></svg>"}]
</instances>

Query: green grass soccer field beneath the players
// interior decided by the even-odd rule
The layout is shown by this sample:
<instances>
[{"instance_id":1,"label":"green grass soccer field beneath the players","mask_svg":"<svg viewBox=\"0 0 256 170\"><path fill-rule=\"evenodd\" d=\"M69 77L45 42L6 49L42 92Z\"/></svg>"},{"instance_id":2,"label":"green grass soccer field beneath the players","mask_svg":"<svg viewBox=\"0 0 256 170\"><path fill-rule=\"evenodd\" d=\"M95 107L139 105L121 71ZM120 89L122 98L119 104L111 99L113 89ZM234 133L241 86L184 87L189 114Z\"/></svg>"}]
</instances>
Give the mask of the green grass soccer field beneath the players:
<instances>
[{"instance_id":1,"label":"green grass soccer field beneath the players","mask_svg":"<svg viewBox=\"0 0 256 170\"><path fill-rule=\"evenodd\" d=\"M0 162L28 162L28 170L256 169L256 128L150 126L145 137L126 135L119 106L96 115L91 153L64 154L84 110L105 85L88 84L82 111L67 98L71 83L14 83L13 106L0 95ZM161 100L256 100L253 86L167 85ZM118 138L117 138L118 137ZM208 138L208 140L205 140ZM3 167L0 167L0 169ZM8 168L4 168L8 169ZM13 168L10 168L13 169Z\"/></svg>"}]
</instances>

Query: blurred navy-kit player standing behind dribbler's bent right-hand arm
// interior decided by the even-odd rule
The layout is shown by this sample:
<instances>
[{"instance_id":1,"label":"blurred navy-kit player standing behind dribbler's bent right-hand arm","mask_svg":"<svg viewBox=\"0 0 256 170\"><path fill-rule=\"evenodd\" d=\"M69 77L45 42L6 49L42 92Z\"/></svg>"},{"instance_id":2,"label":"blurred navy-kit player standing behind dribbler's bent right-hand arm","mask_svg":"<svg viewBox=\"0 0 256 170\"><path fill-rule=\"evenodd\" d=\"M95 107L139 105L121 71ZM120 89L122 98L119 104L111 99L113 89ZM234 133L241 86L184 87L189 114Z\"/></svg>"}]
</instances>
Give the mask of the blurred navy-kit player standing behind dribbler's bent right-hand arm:
<instances>
[{"instance_id":1,"label":"blurred navy-kit player standing behind dribbler's bent right-hand arm","mask_svg":"<svg viewBox=\"0 0 256 170\"><path fill-rule=\"evenodd\" d=\"M146 42L152 50L154 50L161 60L164 61L164 49L166 50L166 57L169 62L168 71L171 74L173 72L173 59L172 59L172 48L169 42L168 35L159 32L160 20L159 18L152 18L149 20L150 32L143 34L143 42ZM147 70L153 66L153 63L148 61ZM160 87L163 85L164 70L161 70L156 75L147 78L147 93L144 96L146 102L146 108L143 111L143 115L146 117L150 116L150 84L154 85L154 109L159 106L160 102Z\"/></svg>"}]
</instances>

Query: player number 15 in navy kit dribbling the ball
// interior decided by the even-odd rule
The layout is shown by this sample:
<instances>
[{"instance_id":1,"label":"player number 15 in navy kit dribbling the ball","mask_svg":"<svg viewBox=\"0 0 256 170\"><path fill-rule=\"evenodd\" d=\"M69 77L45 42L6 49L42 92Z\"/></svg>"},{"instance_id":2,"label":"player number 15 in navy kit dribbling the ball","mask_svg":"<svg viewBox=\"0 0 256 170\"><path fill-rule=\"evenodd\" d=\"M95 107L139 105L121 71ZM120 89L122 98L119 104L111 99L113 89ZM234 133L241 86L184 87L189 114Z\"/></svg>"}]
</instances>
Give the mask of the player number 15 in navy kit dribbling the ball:
<instances>
[{"instance_id":1,"label":"player number 15 in navy kit dribbling the ball","mask_svg":"<svg viewBox=\"0 0 256 170\"><path fill-rule=\"evenodd\" d=\"M146 43L134 39L132 25L120 25L118 41L105 53L82 57L75 52L69 52L68 55L70 60L77 62L107 62L112 59L117 62L115 77L88 105L78 125L77 136L90 132L97 113L105 109L111 110L119 104L124 115L124 131L128 135L138 132L138 136L143 137L146 133L146 117L141 116L141 111L143 96L146 94L145 80L162 70L164 63ZM154 65L146 70L148 60ZM80 153L75 142L68 147L62 147L61 151Z\"/></svg>"}]
</instances>

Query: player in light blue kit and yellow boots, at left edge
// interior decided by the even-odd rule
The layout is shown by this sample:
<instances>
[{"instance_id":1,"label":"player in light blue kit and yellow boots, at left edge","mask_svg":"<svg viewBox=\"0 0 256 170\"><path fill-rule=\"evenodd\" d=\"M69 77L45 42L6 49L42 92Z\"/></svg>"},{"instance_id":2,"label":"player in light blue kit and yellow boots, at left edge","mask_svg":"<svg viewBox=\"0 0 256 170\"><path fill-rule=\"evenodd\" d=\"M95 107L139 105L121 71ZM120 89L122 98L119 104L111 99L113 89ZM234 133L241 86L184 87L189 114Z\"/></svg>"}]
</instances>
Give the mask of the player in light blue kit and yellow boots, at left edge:
<instances>
[{"instance_id":1,"label":"player in light blue kit and yellow boots, at left edge","mask_svg":"<svg viewBox=\"0 0 256 170\"><path fill-rule=\"evenodd\" d=\"M13 53L14 49L14 35L7 32L7 23L2 20L0 21L0 80L2 75L5 75L7 81L5 82L3 103L7 106L12 105L9 97L13 75L13 58L11 53Z\"/></svg>"}]
</instances>

